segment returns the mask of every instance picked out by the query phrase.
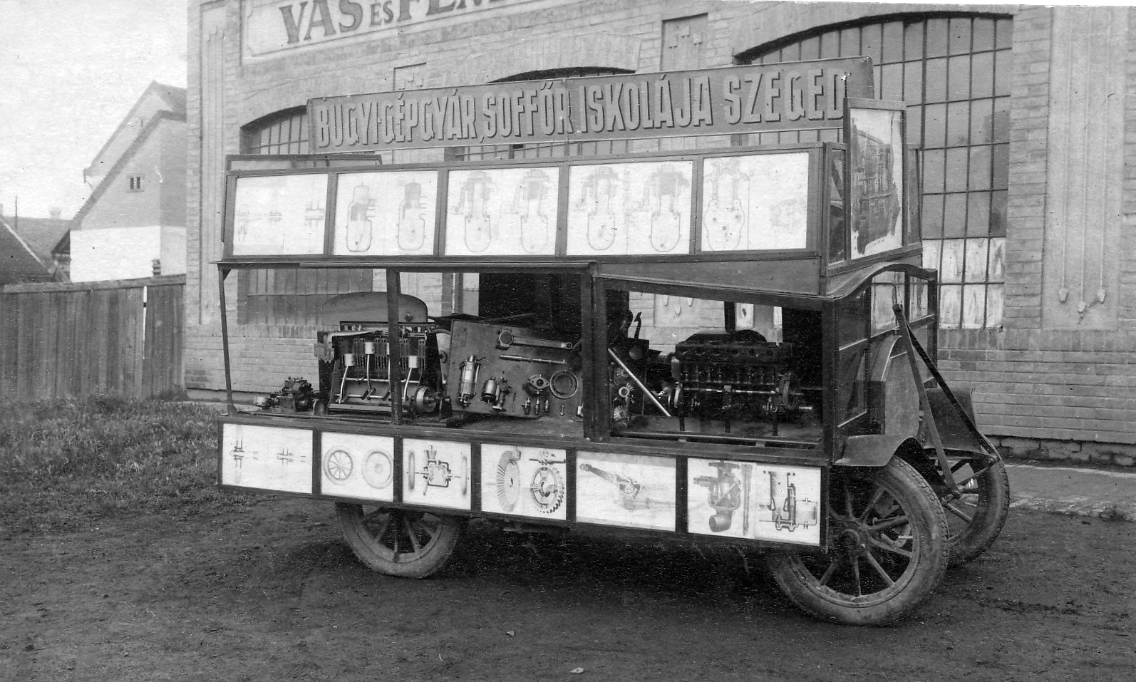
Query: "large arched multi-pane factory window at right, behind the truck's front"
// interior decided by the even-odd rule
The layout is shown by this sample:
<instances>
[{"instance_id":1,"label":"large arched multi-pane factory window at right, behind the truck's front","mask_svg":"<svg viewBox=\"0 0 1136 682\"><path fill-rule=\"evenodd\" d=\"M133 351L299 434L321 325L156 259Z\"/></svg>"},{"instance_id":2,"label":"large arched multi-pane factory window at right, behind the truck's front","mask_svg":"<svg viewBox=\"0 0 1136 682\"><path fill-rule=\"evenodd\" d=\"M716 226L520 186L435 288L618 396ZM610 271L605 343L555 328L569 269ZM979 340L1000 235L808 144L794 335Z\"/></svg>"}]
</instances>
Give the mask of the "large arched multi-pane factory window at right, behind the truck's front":
<instances>
[{"instance_id":1,"label":"large arched multi-pane factory window at right, behind the truck's front","mask_svg":"<svg viewBox=\"0 0 1136 682\"><path fill-rule=\"evenodd\" d=\"M745 64L871 57L876 95L903 100L922 148L924 265L939 273L941 326L1002 325L1010 159L1009 17L902 15L827 26L762 45ZM766 133L753 143L834 140Z\"/></svg>"}]
</instances>

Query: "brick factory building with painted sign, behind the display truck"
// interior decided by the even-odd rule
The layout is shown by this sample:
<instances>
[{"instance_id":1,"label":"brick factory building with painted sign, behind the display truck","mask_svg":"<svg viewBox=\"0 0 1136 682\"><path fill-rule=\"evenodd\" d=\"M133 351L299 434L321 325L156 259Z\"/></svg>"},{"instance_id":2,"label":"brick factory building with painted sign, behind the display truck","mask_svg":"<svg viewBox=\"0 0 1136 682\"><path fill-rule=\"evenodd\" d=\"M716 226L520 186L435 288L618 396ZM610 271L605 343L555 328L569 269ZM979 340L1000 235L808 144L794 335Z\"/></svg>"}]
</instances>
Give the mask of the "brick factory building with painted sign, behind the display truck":
<instances>
[{"instance_id":1,"label":"brick factory building with painted sign, behind the display truck","mask_svg":"<svg viewBox=\"0 0 1136 682\"><path fill-rule=\"evenodd\" d=\"M192 392L224 388L212 263L222 253L226 156L307 153L308 99L863 55L877 95L910 105L908 142L924 150L924 261L939 272L941 367L952 385L974 391L979 426L1018 454L1133 464L1134 9L193 0L189 24ZM830 133L376 156L398 164L604 155L836 141ZM233 273L225 286L234 390L277 390L296 367L310 366L314 379L319 303L383 282L381 272L358 269ZM462 309L468 286L458 277L421 282L414 293L450 313ZM654 313L666 316L668 305Z\"/></svg>"}]
</instances>

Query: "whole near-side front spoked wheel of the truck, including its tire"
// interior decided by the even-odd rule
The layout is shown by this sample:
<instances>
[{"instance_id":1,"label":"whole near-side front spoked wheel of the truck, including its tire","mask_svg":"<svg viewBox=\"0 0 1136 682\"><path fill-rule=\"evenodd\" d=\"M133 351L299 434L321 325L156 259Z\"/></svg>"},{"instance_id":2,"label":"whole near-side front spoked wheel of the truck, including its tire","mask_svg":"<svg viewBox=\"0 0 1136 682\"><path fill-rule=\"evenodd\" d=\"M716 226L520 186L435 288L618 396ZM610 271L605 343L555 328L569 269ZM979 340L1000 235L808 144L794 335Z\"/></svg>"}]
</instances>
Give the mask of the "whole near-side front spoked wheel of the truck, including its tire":
<instances>
[{"instance_id":1,"label":"whole near-side front spoked wheel of the truck, including its tire","mask_svg":"<svg viewBox=\"0 0 1136 682\"><path fill-rule=\"evenodd\" d=\"M946 571L947 525L930 485L899 459L834 469L829 551L766 555L782 591L805 612L850 625L886 625L926 599Z\"/></svg>"}]
</instances>

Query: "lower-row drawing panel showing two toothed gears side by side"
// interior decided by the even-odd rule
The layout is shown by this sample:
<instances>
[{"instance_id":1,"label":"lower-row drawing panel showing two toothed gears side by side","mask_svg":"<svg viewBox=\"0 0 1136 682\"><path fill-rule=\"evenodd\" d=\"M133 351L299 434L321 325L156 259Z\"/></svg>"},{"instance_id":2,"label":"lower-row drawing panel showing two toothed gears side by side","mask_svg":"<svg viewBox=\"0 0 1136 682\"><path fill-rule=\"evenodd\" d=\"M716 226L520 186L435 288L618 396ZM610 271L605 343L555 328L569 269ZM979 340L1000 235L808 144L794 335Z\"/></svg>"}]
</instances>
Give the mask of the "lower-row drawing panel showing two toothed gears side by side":
<instances>
[{"instance_id":1,"label":"lower-row drawing panel showing two toothed gears side by side","mask_svg":"<svg viewBox=\"0 0 1136 682\"><path fill-rule=\"evenodd\" d=\"M567 452L546 448L482 446L482 512L566 519Z\"/></svg>"}]
</instances>

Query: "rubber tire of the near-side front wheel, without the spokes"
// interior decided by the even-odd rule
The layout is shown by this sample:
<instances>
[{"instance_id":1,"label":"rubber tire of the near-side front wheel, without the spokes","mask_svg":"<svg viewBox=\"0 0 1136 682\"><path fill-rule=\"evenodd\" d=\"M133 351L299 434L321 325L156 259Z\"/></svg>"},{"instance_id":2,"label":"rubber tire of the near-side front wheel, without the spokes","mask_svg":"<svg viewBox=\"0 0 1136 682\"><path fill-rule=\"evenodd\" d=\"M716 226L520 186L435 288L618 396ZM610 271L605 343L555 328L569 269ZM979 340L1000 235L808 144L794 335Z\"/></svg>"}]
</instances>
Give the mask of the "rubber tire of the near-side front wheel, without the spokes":
<instances>
[{"instance_id":1,"label":"rubber tire of the near-side front wheel, without the spokes","mask_svg":"<svg viewBox=\"0 0 1136 682\"><path fill-rule=\"evenodd\" d=\"M897 457L883 467L853 468L847 475L883 486L912 522L914 556L895 584L861 597L821 585L801 559L816 550L771 550L766 565L785 596L812 616L845 625L888 625L914 610L942 582L950 560L946 516L927 481ZM830 498L838 499L843 509L843 498L836 493L840 483L833 480L830 485ZM829 554L844 551L841 538L830 538L829 543Z\"/></svg>"}]
</instances>

